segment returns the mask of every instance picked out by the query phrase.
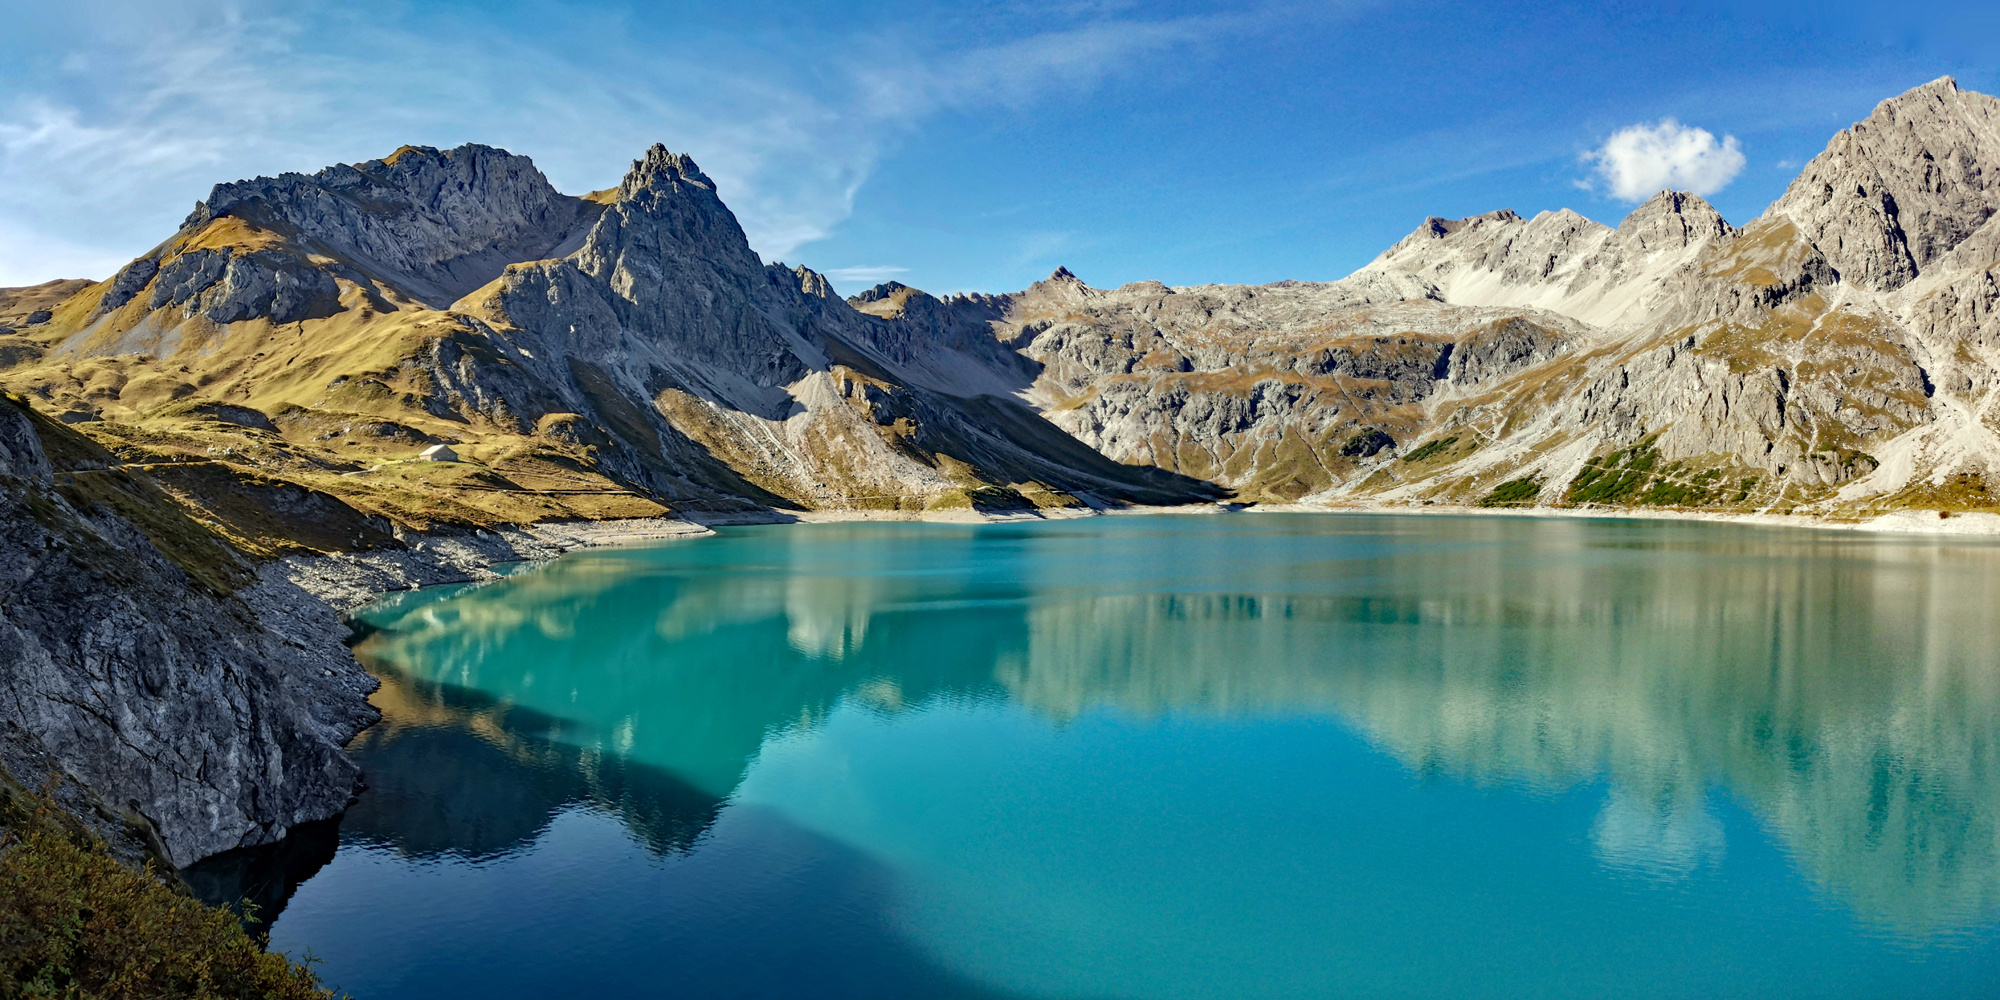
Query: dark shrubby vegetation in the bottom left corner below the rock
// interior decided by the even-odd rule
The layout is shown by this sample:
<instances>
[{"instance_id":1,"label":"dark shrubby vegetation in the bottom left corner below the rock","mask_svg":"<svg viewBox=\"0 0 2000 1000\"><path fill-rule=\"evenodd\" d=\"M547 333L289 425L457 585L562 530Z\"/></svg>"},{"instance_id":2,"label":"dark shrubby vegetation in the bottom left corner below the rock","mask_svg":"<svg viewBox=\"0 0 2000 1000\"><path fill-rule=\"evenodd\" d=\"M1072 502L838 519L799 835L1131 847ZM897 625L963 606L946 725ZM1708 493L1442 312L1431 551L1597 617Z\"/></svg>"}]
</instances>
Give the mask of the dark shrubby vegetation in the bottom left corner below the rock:
<instances>
[{"instance_id":1,"label":"dark shrubby vegetation in the bottom left corner below the rock","mask_svg":"<svg viewBox=\"0 0 2000 1000\"><path fill-rule=\"evenodd\" d=\"M48 822L0 834L0 996L324 1000L228 910L202 906Z\"/></svg>"}]
</instances>

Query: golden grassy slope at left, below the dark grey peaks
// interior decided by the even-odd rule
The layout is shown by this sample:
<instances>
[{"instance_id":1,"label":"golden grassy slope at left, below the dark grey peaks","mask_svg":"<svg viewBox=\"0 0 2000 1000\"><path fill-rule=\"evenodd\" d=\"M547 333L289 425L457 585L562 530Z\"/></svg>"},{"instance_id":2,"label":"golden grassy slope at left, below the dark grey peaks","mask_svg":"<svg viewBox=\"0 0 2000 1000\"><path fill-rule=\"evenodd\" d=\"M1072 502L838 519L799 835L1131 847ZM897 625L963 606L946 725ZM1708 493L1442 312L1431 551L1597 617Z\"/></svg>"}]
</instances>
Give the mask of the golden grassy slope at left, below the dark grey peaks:
<instances>
[{"instance_id":1,"label":"golden grassy slope at left, below the dark grey peaks","mask_svg":"<svg viewBox=\"0 0 2000 1000\"><path fill-rule=\"evenodd\" d=\"M172 496L256 556L376 544L380 530L366 526L368 516L428 528L666 512L594 472L594 448L582 440L440 416L432 402L438 388L412 358L446 338L484 366L512 364L458 316L360 304L286 326L190 320L178 346L158 358L104 354L112 344L96 336L96 354L20 352L22 364L0 370L0 386L28 390L36 406L82 420L76 428L124 462L176 464L164 474ZM422 474L396 466L438 440L454 442L468 464ZM538 478L512 482L506 470L478 464L526 464ZM294 494L344 514L316 526L272 506Z\"/></svg>"}]
</instances>

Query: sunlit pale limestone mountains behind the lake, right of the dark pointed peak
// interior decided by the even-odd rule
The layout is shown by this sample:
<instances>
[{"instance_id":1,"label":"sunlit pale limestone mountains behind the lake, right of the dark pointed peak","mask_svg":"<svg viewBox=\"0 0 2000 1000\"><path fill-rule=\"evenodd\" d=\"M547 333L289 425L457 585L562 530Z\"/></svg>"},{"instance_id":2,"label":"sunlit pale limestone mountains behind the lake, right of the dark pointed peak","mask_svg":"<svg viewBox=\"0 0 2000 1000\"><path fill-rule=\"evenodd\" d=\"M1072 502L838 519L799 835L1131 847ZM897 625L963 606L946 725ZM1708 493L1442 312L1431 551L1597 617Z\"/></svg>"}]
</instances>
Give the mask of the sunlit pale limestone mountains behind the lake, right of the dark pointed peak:
<instances>
[{"instance_id":1,"label":"sunlit pale limestone mountains behind the lake, right of the dark pointed peak","mask_svg":"<svg viewBox=\"0 0 2000 1000\"><path fill-rule=\"evenodd\" d=\"M856 306L988 326L1048 420L1244 498L1990 506L1996 108L1888 100L1742 230L1662 192L1616 228L1432 218L1326 284Z\"/></svg>"}]
</instances>

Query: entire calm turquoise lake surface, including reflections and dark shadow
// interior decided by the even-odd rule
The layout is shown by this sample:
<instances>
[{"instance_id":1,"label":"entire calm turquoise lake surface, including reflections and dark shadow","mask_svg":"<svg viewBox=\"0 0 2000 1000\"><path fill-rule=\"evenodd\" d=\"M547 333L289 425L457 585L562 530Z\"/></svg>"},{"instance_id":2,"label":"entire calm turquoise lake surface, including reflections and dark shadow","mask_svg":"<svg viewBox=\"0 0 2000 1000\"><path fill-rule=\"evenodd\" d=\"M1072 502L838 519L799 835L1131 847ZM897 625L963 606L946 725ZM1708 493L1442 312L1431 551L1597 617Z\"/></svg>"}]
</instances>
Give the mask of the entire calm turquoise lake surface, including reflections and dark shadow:
<instances>
[{"instance_id":1,"label":"entire calm turquoise lake surface, including reflections and dark shadow","mask_svg":"<svg viewBox=\"0 0 2000 1000\"><path fill-rule=\"evenodd\" d=\"M726 528L364 618L272 924L362 1000L2000 992L1990 542Z\"/></svg>"}]
</instances>

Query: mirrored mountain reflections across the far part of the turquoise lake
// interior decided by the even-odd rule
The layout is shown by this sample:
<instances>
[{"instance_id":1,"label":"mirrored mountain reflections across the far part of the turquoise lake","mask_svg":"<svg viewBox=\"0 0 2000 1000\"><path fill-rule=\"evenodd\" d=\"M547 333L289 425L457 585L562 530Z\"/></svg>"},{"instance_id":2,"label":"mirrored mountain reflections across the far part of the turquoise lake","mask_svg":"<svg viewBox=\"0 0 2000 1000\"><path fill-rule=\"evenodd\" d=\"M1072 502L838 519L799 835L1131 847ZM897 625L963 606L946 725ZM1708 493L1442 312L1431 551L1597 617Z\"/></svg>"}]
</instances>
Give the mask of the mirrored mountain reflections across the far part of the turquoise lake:
<instances>
[{"instance_id":1,"label":"mirrored mountain reflections across the far part of the turquoise lake","mask_svg":"<svg viewBox=\"0 0 2000 1000\"><path fill-rule=\"evenodd\" d=\"M2000 908L1996 606L1986 542L1710 524L728 530L368 610L340 836L488 858L582 804L686 852L840 706L1324 718L1422 782L1602 782L1588 850L1642 882L1728 854L1724 792L1864 926L1938 940Z\"/></svg>"}]
</instances>

